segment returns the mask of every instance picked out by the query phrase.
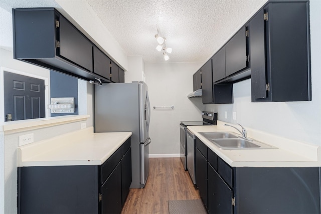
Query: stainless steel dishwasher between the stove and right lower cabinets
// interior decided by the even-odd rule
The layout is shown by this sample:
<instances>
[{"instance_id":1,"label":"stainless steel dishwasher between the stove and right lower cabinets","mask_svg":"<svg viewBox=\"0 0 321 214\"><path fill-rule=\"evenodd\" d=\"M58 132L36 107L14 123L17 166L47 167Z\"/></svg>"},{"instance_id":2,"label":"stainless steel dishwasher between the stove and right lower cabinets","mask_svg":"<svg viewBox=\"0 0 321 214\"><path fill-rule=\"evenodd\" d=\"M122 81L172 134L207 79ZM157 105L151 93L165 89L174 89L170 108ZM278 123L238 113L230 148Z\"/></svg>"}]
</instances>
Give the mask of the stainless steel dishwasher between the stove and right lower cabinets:
<instances>
[{"instance_id":1,"label":"stainless steel dishwasher between the stove and right lower cabinets","mask_svg":"<svg viewBox=\"0 0 321 214\"><path fill-rule=\"evenodd\" d=\"M195 135L186 129L186 147L187 147L187 169L189 170L193 184L195 182Z\"/></svg>"}]
</instances>

